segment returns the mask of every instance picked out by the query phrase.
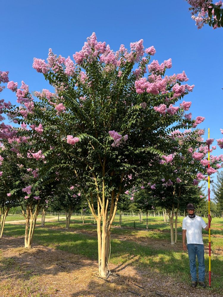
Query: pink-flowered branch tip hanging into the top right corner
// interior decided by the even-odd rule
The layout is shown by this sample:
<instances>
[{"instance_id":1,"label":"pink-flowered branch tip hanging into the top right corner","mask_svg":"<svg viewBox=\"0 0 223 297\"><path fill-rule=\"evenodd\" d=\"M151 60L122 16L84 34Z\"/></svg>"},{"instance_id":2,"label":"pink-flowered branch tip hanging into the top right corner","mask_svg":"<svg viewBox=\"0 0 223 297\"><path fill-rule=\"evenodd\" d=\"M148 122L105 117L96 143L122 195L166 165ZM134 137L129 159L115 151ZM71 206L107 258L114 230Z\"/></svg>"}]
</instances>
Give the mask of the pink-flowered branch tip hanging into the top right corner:
<instances>
[{"instance_id":1,"label":"pink-flowered branch tip hanging into the top right corner","mask_svg":"<svg viewBox=\"0 0 223 297\"><path fill-rule=\"evenodd\" d=\"M222 1L215 4L212 0L186 0L190 4L191 18L195 20L197 28L208 24L213 29L223 27Z\"/></svg>"}]
</instances>

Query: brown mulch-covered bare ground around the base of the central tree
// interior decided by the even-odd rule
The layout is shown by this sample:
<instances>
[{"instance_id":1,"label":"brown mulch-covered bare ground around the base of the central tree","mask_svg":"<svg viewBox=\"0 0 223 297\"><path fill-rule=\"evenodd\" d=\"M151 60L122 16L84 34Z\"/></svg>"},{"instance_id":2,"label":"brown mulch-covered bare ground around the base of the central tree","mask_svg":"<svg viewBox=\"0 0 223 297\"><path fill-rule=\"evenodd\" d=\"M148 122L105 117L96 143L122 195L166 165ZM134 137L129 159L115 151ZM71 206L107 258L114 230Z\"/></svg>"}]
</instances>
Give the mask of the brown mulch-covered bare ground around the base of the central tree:
<instances>
[{"instance_id":1,"label":"brown mulch-covered bare ground around the base of the central tree","mask_svg":"<svg viewBox=\"0 0 223 297\"><path fill-rule=\"evenodd\" d=\"M34 244L23 248L23 237L4 236L0 241L0 297L222 297L208 288L191 288L129 262L110 265L116 274L103 280L98 263L78 255Z\"/></svg>"}]
</instances>

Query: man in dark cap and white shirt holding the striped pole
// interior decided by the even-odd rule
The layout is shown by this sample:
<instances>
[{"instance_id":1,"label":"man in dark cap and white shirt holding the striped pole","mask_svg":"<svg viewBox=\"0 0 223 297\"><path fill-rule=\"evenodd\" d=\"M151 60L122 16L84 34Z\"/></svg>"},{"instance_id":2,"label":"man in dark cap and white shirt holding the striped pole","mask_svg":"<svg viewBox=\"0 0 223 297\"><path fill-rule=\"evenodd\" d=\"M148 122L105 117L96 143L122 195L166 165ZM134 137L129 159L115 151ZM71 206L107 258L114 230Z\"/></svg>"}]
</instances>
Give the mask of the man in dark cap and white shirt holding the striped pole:
<instances>
[{"instance_id":1,"label":"man in dark cap and white shirt holding the striped pole","mask_svg":"<svg viewBox=\"0 0 223 297\"><path fill-rule=\"evenodd\" d=\"M194 213L194 205L189 203L187 205L188 216L183 219L182 224L182 238L183 250L188 250L190 272L191 272L191 287L197 286L197 270L196 270L196 255L198 260L198 275L199 285L203 288L205 285L205 263L204 263L204 243L202 238L202 228L206 231L209 225L205 223L202 217L198 217ZM208 222L211 222L211 216L208 215ZM185 240L187 238L187 245Z\"/></svg>"}]
</instances>

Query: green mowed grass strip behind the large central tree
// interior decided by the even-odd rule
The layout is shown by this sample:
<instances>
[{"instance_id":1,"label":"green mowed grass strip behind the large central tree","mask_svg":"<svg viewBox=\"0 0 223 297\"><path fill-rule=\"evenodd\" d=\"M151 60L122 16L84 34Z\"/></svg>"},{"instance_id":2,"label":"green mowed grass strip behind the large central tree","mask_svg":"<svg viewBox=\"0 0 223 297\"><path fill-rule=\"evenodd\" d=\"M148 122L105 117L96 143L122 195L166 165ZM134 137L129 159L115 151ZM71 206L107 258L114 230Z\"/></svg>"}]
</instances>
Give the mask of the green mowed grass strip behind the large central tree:
<instances>
[{"instance_id":1,"label":"green mowed grass strip behind the large central tree","mask_svg":"<svg viewBox=\"0 0 223 297\"><path fill-rule=\"evenodd\" d=\"M136 227L145 228L145 222L139 224L135 217L123 217L123 225L126 227L132 227L135 220ZM182 219L179 218L179 225L182 224ZM73 217L71 219L70 230L65 230L65 219L60 219L60 222L46 222L45 227L41 228L40 223L37 223L35 230L34 242L39 244L55 247L70 253L82 255L92 260L97 260L97 236L96 225L91 217L86 217L85 222L89 224L81 223L80 217ZM118 218L115 225L118 225ZM212 233L216 231L216 234L222 234L220 230L222 226L222 219L214 218L212 220ZM54 227L54 228L53 228ZM56 227L56 229L55 229ZM111 240L111 257L110 262L115 265L122 265L128 263L128 265L138 266L142 268L150 268L153 271L157 271L163 275L171 275L176 280L181 282L190 283L190 271L189 260L187 252L174 251L170 245L169 226L166 225L161 217L149 218L149 228L154 231L143 231L129 228L112 228L112 235L123 236L126 240L120 240L112 238ZM158 232L157 230L166 231ZM181 228L179 227L179 231ZM91 231L86 233L74 233L72 231ZM204 231L205 232L205 231ZM5 226L5 235L8 236L24 236L24 225L10 225ZM204 237L204 244L208 246L208 232ZM181 241L181 235L178 235L178 240ZM131 240L132 238L132 240ZM144 243L134 241L134 238L143 238ZM159 244L157 244L160 241ZM153 242L156 245L153 247ZM169 244L168 248L162 247L162 242ZM211 238L212 249L221 249L223 247L223 238L212 237ZM219 269L223 264L222 255L212 255L212 287L211 290L223 289L223 270ZM205 255L206 264L206 279L208 280L208 254Z\"/></svg>"}]
</instances>

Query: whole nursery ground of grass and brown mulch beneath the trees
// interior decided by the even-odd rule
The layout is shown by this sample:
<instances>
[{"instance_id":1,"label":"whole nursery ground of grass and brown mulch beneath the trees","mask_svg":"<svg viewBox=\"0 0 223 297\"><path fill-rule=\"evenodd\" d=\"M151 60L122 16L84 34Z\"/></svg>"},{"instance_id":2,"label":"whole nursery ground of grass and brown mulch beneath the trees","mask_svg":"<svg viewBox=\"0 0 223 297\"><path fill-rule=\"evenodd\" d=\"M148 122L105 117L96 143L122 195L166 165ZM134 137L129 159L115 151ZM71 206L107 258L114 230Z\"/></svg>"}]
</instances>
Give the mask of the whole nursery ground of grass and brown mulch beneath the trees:
<instances>
[{"instance_id":1,"label":"whole nursery ground of grass and brown mulch beneath the trees","mask_svg":"<svg viewBox=\"0 0 223 297\"><path fill-rule=\"evenodd\" d=\"M223 219L211 224L211 288L191 289L189 260L178 242L170 244L168 223L162 217L116 217L112 228L109 268L118 276L97 274L97 227L91 217L48 216L37 220L33 248L24 245L22 216L8 216L1 238L0 296L223 296ZM135 223L134 223L135 221ZM207 221L207 219L205 219ZM208 282L208 232L204 231Z\"/></svg>"}]
</instances>

